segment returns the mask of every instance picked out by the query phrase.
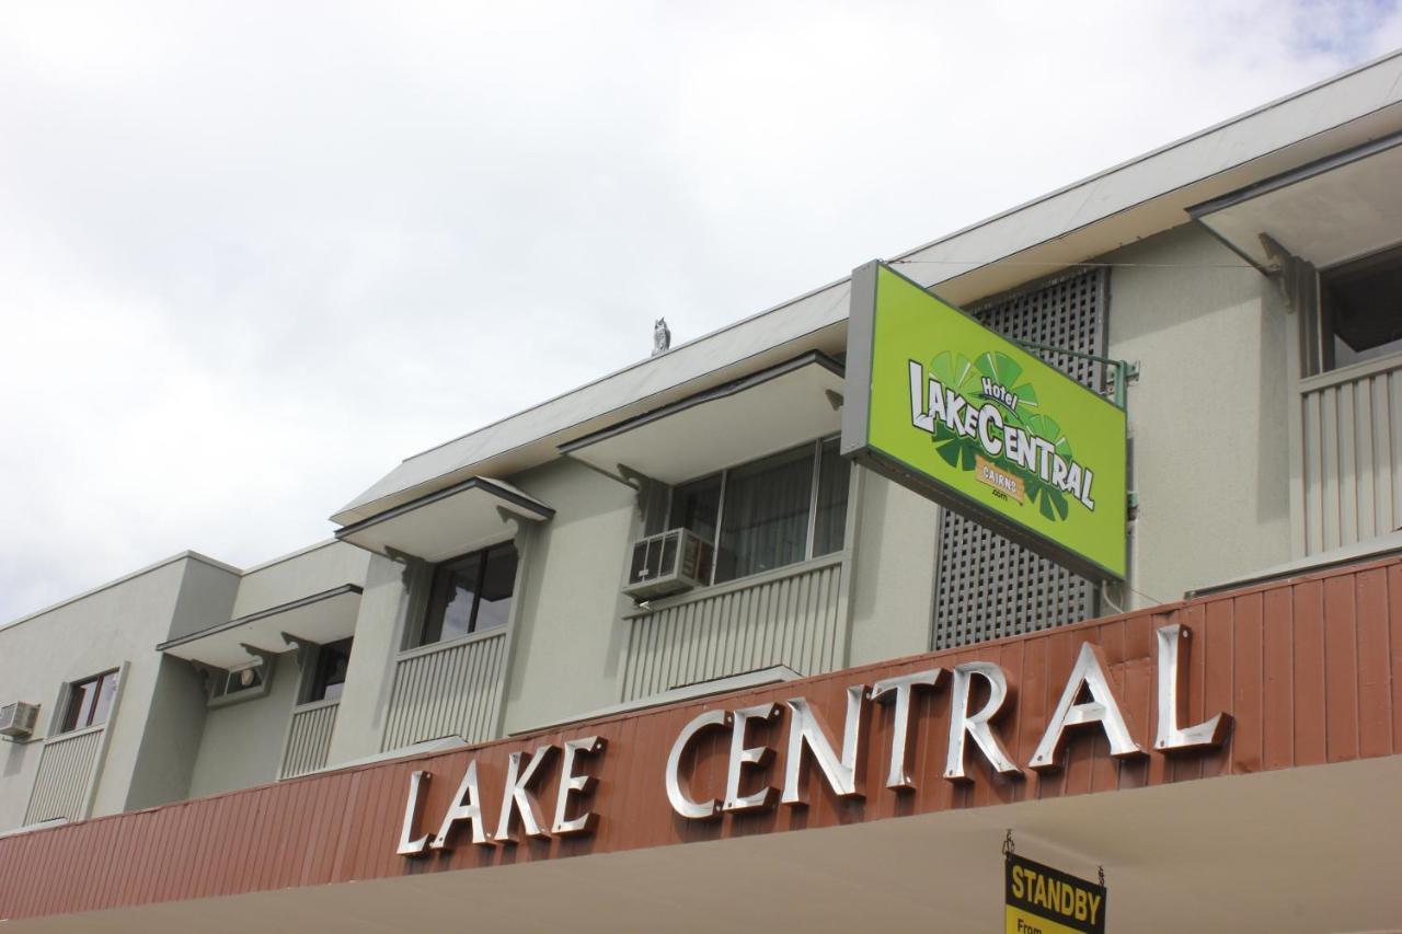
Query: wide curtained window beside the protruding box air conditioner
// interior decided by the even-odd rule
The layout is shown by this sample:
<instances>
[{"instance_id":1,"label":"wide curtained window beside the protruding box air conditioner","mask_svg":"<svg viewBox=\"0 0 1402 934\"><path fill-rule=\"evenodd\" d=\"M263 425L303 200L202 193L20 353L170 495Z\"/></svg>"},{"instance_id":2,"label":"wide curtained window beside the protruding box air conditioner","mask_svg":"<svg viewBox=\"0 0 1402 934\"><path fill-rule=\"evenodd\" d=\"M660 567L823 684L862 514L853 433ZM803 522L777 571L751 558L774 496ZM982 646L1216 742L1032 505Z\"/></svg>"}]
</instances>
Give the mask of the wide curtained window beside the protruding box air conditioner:
<instances>
[{"instance_id":1,"label":"wide curtained window beside the protruding box air conditioner","mask_svg":"<svg viewBox=\"0 0 1402 934\"><path fill-rule=\"evenodd\" d=\"M666 524L715 546L714 583L817 558L843 548L848 473L813 442L674 488Z\"/></svg>"}]
</instances>

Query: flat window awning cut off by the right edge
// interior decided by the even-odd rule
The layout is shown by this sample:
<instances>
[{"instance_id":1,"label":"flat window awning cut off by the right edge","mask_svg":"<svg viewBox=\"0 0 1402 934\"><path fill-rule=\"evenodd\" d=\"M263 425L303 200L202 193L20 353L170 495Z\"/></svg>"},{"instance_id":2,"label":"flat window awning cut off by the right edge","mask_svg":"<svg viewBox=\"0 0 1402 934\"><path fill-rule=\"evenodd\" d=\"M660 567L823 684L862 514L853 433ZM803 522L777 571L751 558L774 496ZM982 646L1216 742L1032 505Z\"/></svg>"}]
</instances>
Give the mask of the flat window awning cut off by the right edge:
<instances>
[{"instance_id":1,"label":"flat window awning cut off by the right edge","mask_svg":"<svg viewBox=\"0 0 1402 934\"><path fill-rule=\"evenodd\" d=\"M1402 133L1302 165L1189 209L1260 269L1266 234L1323 269L1398 243L1402 229Z\"/></svg>"}]
</instances>

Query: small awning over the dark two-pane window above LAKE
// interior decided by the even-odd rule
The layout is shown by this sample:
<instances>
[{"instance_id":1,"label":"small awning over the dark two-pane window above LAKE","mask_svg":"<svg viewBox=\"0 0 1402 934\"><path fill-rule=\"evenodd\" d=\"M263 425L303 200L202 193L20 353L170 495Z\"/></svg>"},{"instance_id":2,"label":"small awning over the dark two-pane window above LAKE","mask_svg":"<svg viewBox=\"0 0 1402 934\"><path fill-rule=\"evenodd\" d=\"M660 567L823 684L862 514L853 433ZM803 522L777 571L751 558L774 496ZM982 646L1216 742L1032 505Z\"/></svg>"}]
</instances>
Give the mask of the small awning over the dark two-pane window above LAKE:
<instances>
[{"instance_id":1,"label":"small awning over the dark two-pane window above LAKE","mask_svg":"<svg viewBox=\"0 0 1402 934\"><path fill-rule=\"evenodd\" d=\"M544 522L555 510L510 484L472 477L336 532L376 554L443 561L509 536L513 519Z\"/></svg>"}]
</instances>

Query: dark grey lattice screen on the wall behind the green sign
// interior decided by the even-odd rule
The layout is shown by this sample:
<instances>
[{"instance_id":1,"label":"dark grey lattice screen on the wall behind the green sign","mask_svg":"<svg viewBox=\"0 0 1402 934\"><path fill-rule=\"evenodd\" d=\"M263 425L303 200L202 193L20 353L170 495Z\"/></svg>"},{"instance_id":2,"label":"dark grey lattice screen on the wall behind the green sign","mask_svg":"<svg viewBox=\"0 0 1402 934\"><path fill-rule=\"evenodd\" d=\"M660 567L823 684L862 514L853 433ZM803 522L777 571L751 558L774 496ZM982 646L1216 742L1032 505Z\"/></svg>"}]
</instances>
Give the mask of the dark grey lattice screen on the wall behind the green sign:
<instances>
[{"instance_id":1,"label":"dark grey lattice screen on the wall behind the green sign","mask_svg":"<svg viewBox=\"0 0 1402 934\"><path fill-rule=\"evenodd\" d=\"M973 311L1014 341L1103 355L1106 271L1059 276ZM1043 360L1095 390L1099 363L1064 353ZM948 509L939 529L934 648L1021 635L1095 613L1095 585Z\"/></svg>"}]
</instances>

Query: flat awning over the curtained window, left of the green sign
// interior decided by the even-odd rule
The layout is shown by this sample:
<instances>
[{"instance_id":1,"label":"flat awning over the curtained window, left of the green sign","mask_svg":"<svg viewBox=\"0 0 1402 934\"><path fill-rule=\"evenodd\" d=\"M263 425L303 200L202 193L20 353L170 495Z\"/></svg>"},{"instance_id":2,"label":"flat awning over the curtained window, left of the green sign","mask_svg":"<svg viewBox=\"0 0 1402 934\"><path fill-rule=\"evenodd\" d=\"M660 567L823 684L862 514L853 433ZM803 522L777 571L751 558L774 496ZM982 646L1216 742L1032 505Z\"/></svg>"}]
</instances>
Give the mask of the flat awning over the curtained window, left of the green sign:
<instances>
[{"instance_id":1,"label":"flat awning over the curtained window, left of the green sign","mask_svg":"<svg viewBox=\"0 0 1402 934\"><path fill-rule=\"evenodd\" d=\"M805 353L559 447L610 474L679 484L841 428L843 367Z\"/></svg>"}]
</instances>

